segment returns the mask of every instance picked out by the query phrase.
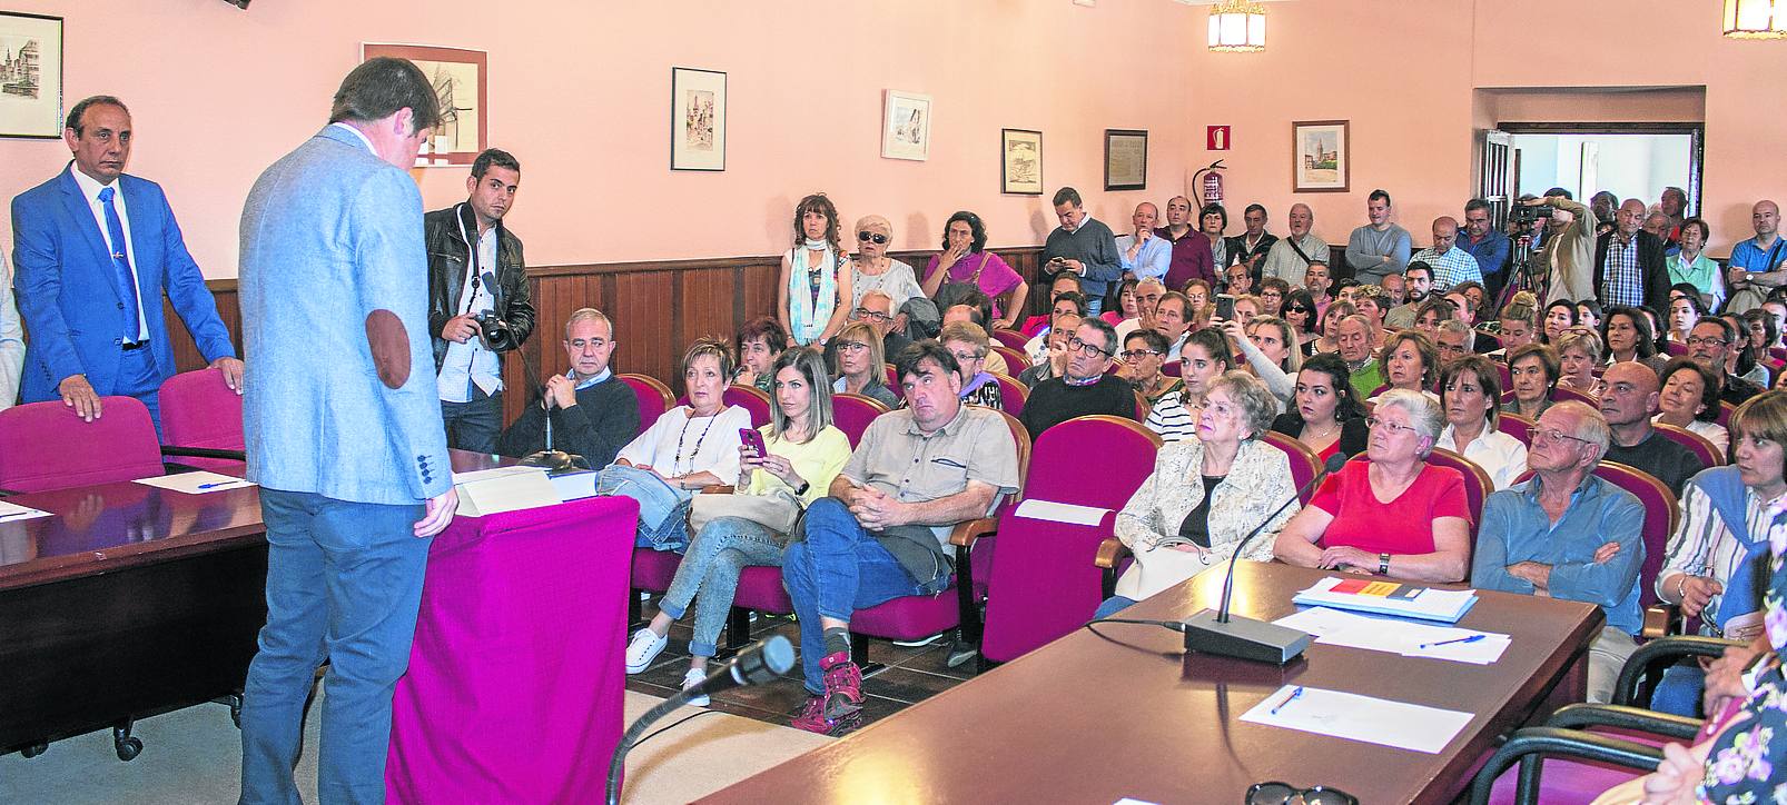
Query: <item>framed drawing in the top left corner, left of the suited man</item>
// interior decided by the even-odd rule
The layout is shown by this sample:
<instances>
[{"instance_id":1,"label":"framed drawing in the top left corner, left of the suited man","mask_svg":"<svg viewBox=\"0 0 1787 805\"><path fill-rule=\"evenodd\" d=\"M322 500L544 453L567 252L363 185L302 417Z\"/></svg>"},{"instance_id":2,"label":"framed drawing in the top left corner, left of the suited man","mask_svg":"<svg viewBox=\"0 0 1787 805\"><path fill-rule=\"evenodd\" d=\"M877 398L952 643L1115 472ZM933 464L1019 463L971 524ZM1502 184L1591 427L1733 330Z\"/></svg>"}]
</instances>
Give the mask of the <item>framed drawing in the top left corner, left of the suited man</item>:
<instances>
[{"instance_id":1,"label":"framed drawing in the top left corner, left of the suited man","mask_svg":"<svg viewBox=\"0 0 1787 805\"><path fill-rule=\"evenodd\" d=\"M63 136L63 18L0 11L0 137Z\"/></svg>"}]
</instances>

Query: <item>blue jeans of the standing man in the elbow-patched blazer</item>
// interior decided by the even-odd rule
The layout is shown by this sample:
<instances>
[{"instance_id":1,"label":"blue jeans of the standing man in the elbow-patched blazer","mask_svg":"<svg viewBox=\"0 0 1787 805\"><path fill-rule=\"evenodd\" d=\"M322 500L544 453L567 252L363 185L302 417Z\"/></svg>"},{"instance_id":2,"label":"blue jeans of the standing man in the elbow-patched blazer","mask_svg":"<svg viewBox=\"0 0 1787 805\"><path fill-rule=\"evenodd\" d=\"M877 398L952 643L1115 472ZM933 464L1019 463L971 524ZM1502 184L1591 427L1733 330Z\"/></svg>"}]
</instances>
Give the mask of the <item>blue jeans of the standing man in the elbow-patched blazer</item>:
<instances>
[{"instance_id":1,"label":"blue jeans of the standing man in the elbow-patched blazer","mask_svg":"<svg viewBox=\"0 0 1787 805\"><path fill-rule=\"evenodd\" d=\"M329 660L316 794L384 801L391 694L409 669L429 539L422 505L261 489L266 627L241 700L241 801L298 803L304 705Z\"/></svg>"}]
</instances>

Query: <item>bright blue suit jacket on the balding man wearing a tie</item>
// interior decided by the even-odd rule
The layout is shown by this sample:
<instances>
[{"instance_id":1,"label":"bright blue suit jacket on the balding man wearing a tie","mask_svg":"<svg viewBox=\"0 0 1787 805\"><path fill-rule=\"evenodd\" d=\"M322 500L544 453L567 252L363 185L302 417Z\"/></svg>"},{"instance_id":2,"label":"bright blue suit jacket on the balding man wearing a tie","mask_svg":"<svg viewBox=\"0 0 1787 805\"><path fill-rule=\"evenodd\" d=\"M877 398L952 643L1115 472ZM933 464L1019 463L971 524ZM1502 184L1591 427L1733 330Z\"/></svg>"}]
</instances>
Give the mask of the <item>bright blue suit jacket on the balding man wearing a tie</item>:
<instances>
[{"instance_id":1,"label":"bright blue suit jacket on the balding man wearing a tie","mask_svg":"<svg viewBox=\"0 0 1787 805\"><path fill-rule=\"evenodd\" d=\"M118 344L129 328L125 300L113 282L111 252L73 170L70 162L55 178L13 198L13 286L30 334L21 382L25 402L59 400L55 387L70 375L86 375L93 391L111 394L123 355ZM206 361L234 357L229 328L218 318L204 273L186 252L161 186L123 175L118 193L130 214L138 295L161 378L173 375L173 346L161 309L164 291Z\"/></svg>"}]
</instances>

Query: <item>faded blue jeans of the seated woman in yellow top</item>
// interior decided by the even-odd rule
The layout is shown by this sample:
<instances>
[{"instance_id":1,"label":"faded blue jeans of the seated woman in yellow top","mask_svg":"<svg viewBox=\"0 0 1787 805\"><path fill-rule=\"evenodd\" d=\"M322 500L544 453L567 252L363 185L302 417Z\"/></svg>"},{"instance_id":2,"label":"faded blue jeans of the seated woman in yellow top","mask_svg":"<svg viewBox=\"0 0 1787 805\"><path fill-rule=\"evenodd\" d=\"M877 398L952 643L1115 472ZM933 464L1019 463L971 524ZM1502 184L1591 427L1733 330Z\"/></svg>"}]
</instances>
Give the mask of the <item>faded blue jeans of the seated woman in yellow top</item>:
<instances>
[{"instance_id":1,"label":"faded blue jeans of the seated woman in yellow top","mask_svg":"<svg viewBox=\"0 0 1787 805\"><path fill-rule=\"evenodd\" d=\"M688 544L683 564L670 580L670 589L658 602L658 610L672 619L683 619L690 602L695 602L695 637L688 653L713 657L718 651L726 614L738 594L738 575L747 566L777 566L783 557L783 535L745 518L713 518L701 527ZM697 593L701 596L697 598Z\"/></svg>"}]
</instances>

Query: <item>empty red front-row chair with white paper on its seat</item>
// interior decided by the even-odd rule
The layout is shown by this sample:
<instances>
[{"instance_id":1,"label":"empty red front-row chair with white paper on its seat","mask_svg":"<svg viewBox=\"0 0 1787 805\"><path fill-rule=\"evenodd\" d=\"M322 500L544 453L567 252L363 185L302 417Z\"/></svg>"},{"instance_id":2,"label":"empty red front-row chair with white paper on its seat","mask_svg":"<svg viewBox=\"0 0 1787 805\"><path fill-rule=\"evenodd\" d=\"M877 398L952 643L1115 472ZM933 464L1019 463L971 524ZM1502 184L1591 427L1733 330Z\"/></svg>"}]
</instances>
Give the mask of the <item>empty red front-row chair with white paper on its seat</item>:
<instances>
[{"instance_id":1,"label":"empty red front-row chair with white paper on its seat","mask_svg":"<svg viewBox=\"0 0 1787 805\"><path fill-rule=\"evenodd\" d=\"M1095 473L1085 471L1092 444ZM1097 525L1031 519L1011 509L999 516L999 550L986 585L985 659L1017 659L1092 618L1103 600L1092 559L1112 535L1117 510L1154 469L1160 444L1160 436L1119 416L1079 416L1036 439L1024 500L1106 509L1106 514Z\"/></svg>"}]
</instances>

